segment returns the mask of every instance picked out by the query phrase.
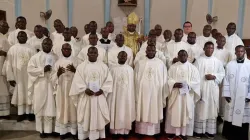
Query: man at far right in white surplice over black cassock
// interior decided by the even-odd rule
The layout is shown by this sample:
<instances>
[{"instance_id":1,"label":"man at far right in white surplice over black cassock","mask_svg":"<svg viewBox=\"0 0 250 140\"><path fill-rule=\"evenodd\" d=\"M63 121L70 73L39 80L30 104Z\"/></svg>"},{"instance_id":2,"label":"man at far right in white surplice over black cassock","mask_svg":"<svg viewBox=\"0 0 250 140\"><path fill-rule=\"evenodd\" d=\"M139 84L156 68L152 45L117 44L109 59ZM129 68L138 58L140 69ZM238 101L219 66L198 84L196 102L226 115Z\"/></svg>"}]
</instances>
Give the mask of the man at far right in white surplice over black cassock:
<instances>
[{"instance_id":1,"label":"man at far right in white surplice over black cassock","mask_svg":"<svg viewBox=\"0 0 250 140\"><path fill-rule=\"evenodd\" d=\"M235 48L236 60L226 66L224 90L226 99L222 135L228 140L248 140L250 123L250 63L244 57L245 47Z\"/></svg>"}]
</instances>

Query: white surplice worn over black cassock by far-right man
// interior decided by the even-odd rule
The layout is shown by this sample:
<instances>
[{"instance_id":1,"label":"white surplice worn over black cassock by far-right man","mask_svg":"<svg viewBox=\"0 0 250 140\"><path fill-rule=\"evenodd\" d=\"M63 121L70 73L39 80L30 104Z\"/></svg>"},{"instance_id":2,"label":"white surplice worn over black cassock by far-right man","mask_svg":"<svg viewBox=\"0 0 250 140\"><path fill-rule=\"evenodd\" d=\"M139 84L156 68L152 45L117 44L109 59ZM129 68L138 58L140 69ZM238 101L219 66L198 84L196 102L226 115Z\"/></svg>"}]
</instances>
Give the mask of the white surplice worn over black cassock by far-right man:
<instances>
[{"instance_id":1,"label":"white surplice worn over black cassock by far-right man","mask_svg":"<svg viewBox=\"0 0 250 140\"><path fill-rule=\"evenodd\" d=\"M250 104L245 103L246 98L250 99L250 61L229 62L223 83L222 96L231 97L231 102L226 102L224 119L239 127L242 123L250 123Z\"/></svg>"}]
</instances>

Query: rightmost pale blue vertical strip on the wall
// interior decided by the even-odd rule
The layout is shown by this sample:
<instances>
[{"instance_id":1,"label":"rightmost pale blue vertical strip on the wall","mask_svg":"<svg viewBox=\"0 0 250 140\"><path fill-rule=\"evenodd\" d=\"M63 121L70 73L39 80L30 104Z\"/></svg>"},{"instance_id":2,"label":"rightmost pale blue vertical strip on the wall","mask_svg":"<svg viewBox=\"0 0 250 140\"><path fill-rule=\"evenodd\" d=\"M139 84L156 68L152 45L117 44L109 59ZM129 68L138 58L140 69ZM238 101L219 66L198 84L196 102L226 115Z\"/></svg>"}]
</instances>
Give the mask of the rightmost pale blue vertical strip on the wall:
<instances>
[{"instance_id":1,"label":"rightmost pale blue vertical strip on the wall","mask_svg":"<svg viewBox=\"0 0 250 140\"><path fill-rule=\"evenodd\" d=\"M237 33L240 38L243 37L243 25L244 25L244 16L245 16L245 7L246 7L245 3L246 3L246 0L239 0Z\"/></svg>"}]
</instances>

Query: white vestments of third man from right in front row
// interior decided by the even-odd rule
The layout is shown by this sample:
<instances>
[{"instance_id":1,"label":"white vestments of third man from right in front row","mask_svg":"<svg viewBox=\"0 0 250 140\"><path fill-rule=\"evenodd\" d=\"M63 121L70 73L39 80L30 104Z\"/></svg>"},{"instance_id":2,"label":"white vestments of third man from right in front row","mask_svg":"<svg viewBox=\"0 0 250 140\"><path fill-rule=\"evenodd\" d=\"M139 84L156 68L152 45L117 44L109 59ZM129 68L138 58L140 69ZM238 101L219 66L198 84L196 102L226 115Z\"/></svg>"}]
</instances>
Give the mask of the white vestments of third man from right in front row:
<instances>
[{"instance_id":1,"label":"white vestments of third man from right in front row","mask_svg":"<svg viewBox=\"0 0 250 140\"><path fill-rule=\"evenodd\" d=\"M165 131L176 136L192 136L194 130L194 109L200 99L200 76L197 68L190 62L176 62L168 71L168 108ZM189 91L180 92L175 83L185 83Z\"/></svg>"}]
</instances>

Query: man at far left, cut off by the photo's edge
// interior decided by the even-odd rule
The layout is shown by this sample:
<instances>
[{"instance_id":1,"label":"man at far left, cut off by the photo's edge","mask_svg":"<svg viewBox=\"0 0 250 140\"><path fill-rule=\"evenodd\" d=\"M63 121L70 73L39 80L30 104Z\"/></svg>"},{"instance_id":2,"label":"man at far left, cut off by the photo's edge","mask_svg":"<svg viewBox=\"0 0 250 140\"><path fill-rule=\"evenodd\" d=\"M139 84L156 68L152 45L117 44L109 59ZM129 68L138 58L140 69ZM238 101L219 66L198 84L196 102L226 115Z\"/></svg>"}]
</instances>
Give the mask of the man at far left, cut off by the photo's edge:
<instances>
[{"instance_id":1,"label":"man at far left, cut off by the photo's edge","mask_svg":"<svg viewBox=\"0 0 250 140\"><path fill-rule=\"evenodd\" d=\"M8 118L10 115L10 95L4 68L7 52L10 49L10 44L6 36L8 31L8 23L4 20L0 21L0 118Z\"/></svg>"}]
</instances>

